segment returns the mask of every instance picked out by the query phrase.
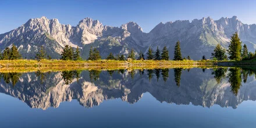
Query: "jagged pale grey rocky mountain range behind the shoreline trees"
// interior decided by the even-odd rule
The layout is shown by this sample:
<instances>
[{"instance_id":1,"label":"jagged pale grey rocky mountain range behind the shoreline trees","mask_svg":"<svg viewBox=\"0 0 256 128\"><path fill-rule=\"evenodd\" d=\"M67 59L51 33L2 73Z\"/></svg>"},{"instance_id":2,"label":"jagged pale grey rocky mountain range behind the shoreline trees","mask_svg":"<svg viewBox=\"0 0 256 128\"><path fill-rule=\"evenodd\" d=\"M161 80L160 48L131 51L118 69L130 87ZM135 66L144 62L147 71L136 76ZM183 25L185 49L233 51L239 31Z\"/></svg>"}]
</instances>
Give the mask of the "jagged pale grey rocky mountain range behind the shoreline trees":
<instances>
[{"instance_id":1,"label":"jagged pale grey rocky mountain range behind the shoreline trees","mask_svg":"<svg viewBox=\"0 0 256 128\"><path fill-rule=\"evenodd\" d=\"M213 20L203 17L192 22L177 20L176 22L159 23L150 33L143 33L137 23L129 22L120 27L104 26L98 20L83 19L77 26L59 23L58 19L41 17L30 19L27 23L8 33L0 34L0 50L17 45L23 58L33 59L41 45L52 58L58 59L64 45L79 47L84 59L88 57L91 46L97 47L103 58L113 54L127 55L131 48L136 52L147 52L167 46L170 59L173 57L175 42L181 42L184 57L201 59L202 55L211 56L216 44L227 48L230 36L238 31L241 40L250 51L256 49L256 25L243 24L236 16Z\"/></svg>"}]
</instances>

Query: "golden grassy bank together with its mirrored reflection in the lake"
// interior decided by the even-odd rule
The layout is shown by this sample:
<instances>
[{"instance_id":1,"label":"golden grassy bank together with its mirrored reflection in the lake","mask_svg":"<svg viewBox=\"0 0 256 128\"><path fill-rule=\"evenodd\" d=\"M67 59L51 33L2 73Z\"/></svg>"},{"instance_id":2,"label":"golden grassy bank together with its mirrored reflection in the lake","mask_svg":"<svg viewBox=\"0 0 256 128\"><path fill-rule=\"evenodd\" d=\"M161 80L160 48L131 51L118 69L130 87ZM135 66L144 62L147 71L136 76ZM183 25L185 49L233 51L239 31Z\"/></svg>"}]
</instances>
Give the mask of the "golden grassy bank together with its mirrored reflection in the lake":
<instances>
[{"instance_id":1,"label":"golden grassy bank together with its mirrored reflection in the lake","mask_svg":"<svg viewBox=\"0 0 256 128\"><path fill-rule=\"evenodd\" d=\"M193 67L217 67L247 65L251 62L234 61L62 61L62 60L1 60L0 72L42 72L63 71L63 70L116 70L116 69L163 69Z\"/></svg>"}]
</instances>

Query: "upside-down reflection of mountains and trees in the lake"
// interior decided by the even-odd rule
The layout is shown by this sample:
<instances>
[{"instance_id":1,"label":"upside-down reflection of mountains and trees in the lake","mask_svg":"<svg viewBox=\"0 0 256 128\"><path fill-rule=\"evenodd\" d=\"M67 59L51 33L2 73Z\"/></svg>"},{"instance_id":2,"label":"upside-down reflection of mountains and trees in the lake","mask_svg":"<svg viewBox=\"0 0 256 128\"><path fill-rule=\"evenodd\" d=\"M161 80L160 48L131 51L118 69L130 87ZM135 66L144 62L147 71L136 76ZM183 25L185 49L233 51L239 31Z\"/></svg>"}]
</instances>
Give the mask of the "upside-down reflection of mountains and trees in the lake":
<instances>
[{"instance_id":1,"label":"upside-down reflection of mountains and trees in the lake","mask_svg":"<svg viewBox=\"0 0 256 128\"><path fill-rule=\"evenodd\" d=\"M0 93L41 109L56 108L72 99L87 108L115 98L133 104L146 92L160 102L206 107L237 108L243 101L256 99L255 72L240 67L38 71L0 76Z\"/></svg>"}]
</instances>

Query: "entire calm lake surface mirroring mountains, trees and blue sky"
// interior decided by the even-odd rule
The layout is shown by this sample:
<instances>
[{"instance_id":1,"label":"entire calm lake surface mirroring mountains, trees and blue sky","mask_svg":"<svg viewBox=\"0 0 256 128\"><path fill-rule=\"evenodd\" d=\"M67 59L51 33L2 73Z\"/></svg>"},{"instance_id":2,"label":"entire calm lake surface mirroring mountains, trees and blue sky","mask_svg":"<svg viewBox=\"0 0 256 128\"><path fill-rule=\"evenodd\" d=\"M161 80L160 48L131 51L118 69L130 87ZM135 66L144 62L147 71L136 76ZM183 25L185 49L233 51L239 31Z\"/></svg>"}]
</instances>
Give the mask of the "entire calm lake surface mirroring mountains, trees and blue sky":
<instances>
[{"instance_id":1,"label":"entire calm lake surface mirroring mountains, trees and blue sky","mask_svg":"<svg viewBox=\"0 0 256 128\"><path fill-rule=\"evenodd\" d=\"M256 127L253 70L1 73L0 127Z\"/></svg>"}]
</instances>

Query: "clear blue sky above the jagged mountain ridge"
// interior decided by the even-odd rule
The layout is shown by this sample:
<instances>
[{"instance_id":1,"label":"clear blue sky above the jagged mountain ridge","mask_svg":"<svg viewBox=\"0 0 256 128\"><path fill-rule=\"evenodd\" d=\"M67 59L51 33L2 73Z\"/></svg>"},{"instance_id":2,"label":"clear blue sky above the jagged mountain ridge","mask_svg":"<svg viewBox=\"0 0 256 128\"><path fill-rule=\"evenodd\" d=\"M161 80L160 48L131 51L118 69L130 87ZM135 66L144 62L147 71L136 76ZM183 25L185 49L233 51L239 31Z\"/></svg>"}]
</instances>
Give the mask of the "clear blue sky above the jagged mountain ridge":
<instances>
[{"instance_id":1,"label":"clear blue sky above the jagged mountain ridge","mask_svg":"<svg viewBox=\"0 0 256 128\"><path fill-rule=\"evenodd\" d=\"M255 0L2 0L0 11L0 33L41 16L56 18L60 23L72 26L85 17L116 27L133 21L144 32L149 32L160 22L191 21L208 16L214 20L237 16L243 23L256 23Z\"/></svg>"}]
</instances>

